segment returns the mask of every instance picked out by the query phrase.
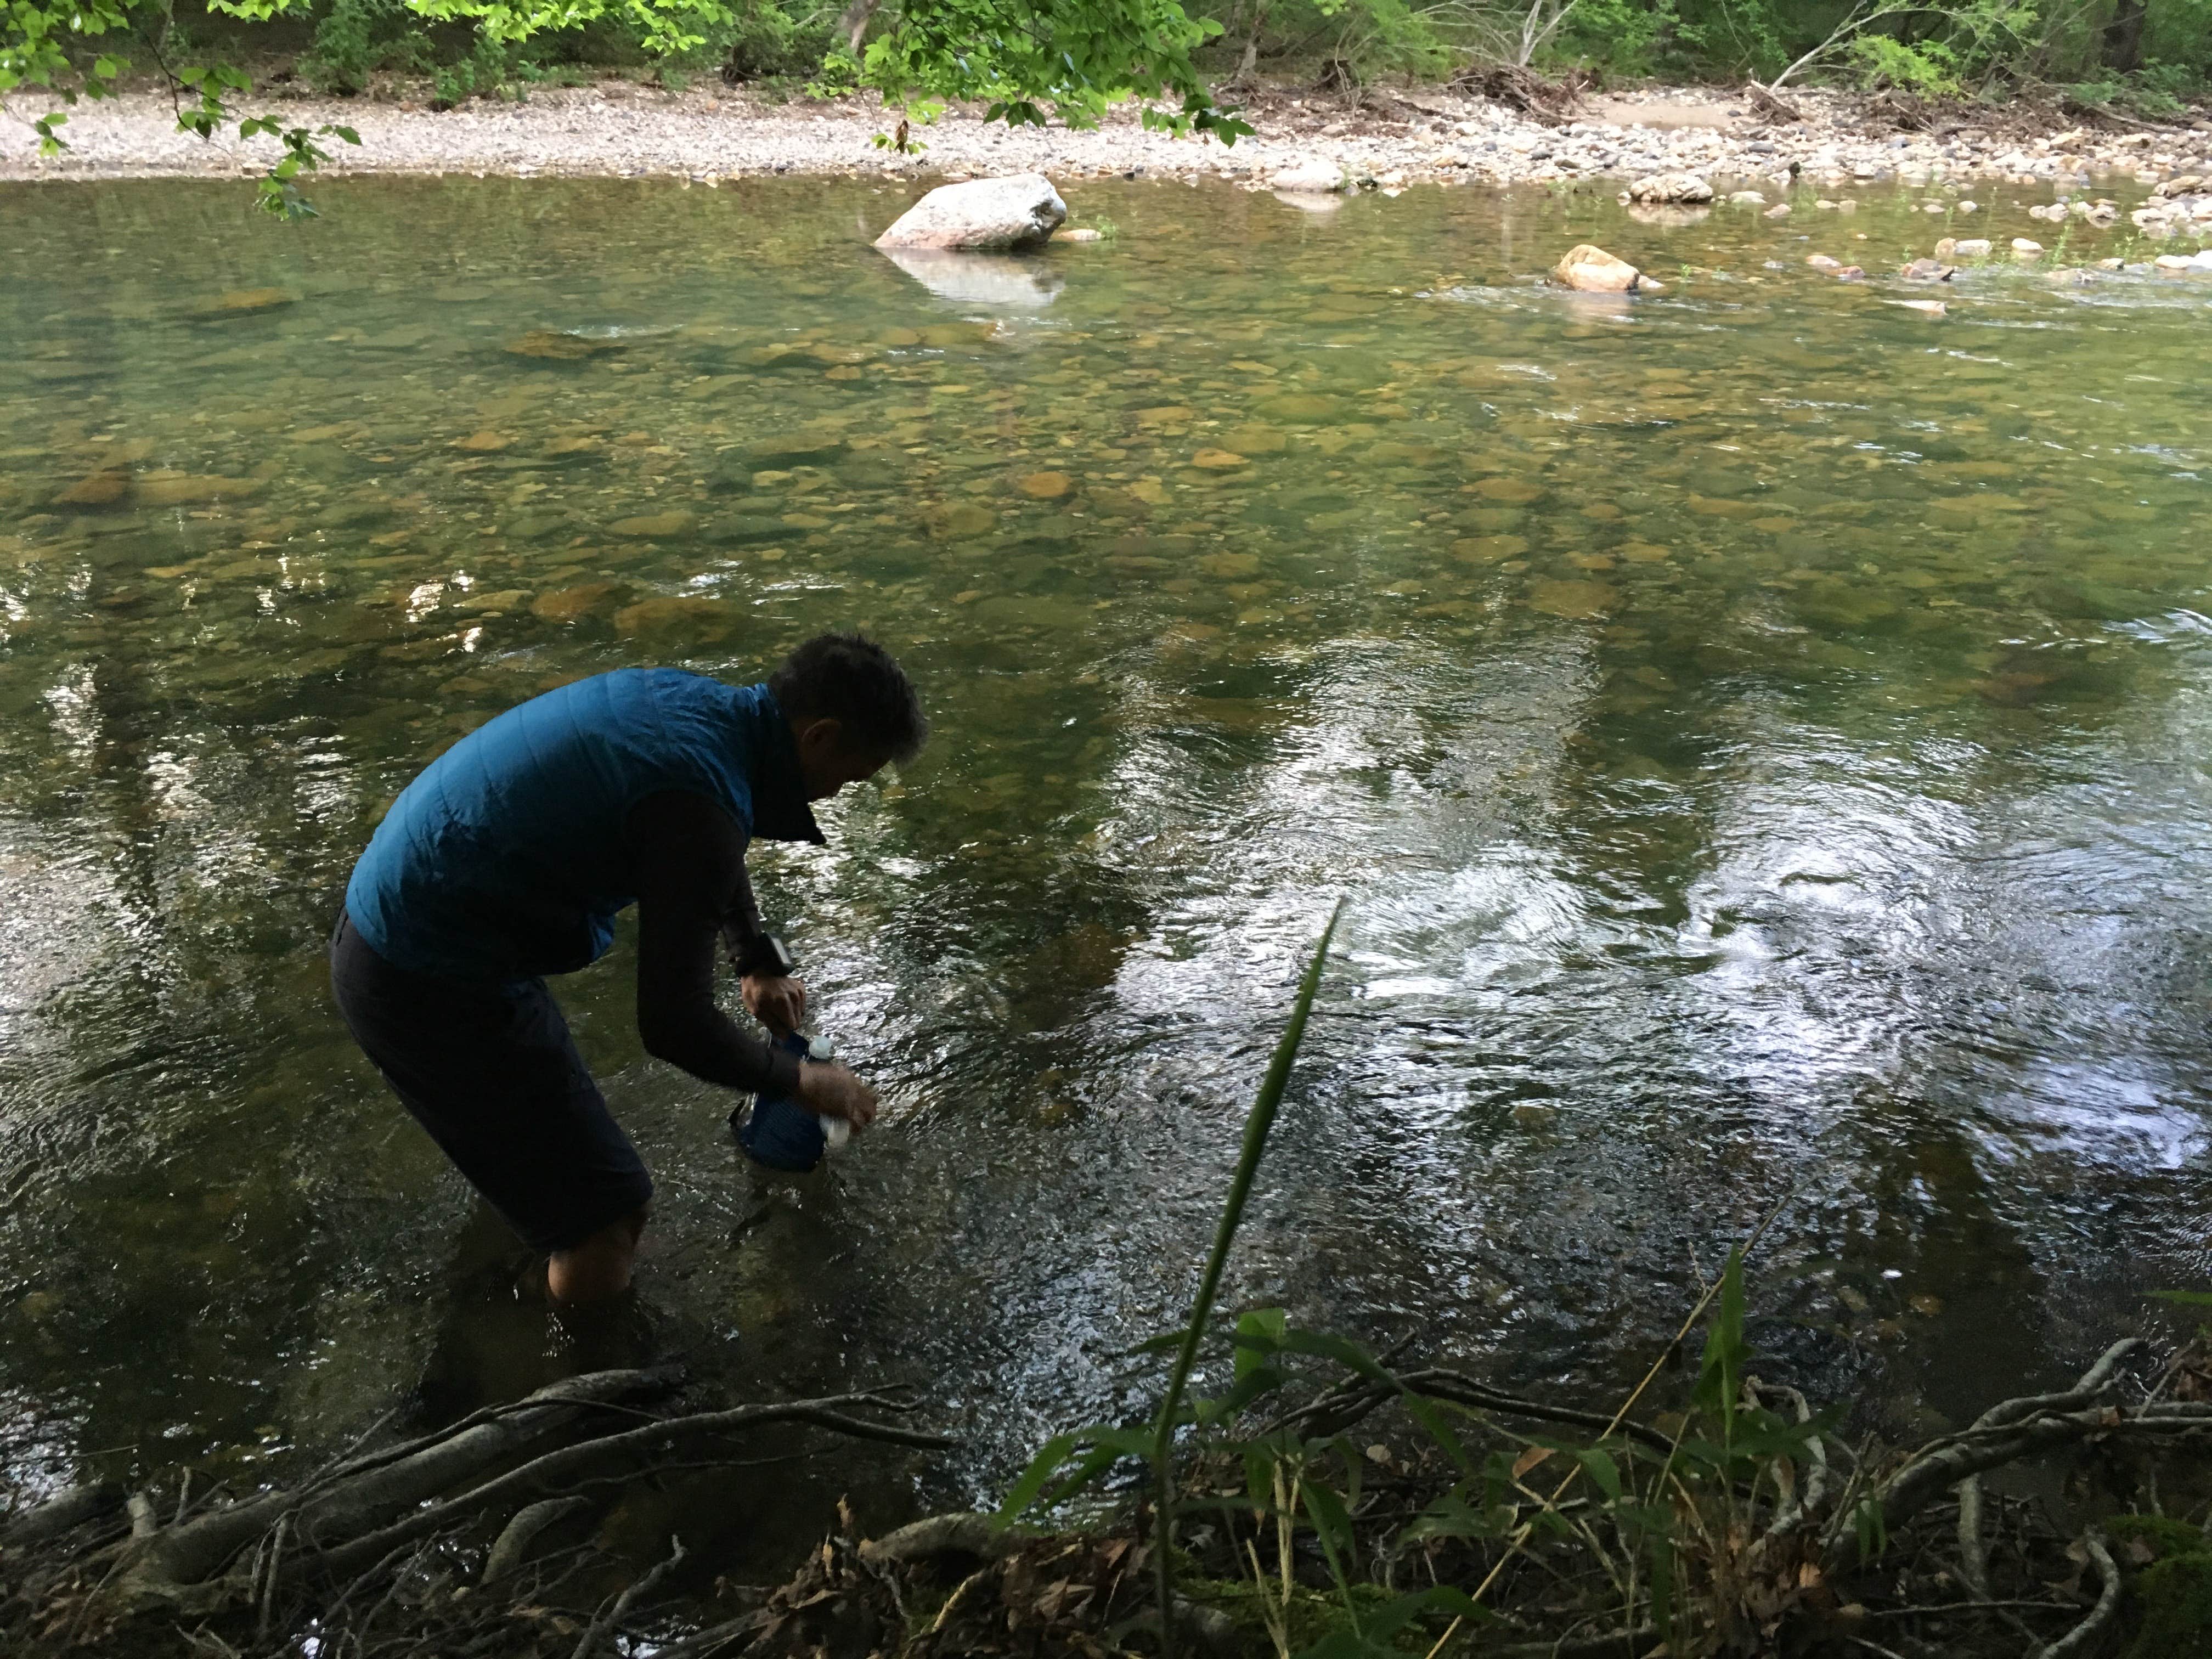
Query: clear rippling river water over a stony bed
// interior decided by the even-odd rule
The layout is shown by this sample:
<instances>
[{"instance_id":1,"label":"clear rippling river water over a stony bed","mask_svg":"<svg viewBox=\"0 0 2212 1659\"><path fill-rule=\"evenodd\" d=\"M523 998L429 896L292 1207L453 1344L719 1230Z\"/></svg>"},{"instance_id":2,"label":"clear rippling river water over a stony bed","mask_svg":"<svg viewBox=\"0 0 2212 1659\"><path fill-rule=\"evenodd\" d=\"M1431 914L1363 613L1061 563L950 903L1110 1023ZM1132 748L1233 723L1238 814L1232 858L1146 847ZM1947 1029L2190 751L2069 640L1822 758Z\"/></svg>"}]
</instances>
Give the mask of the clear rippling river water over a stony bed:
<instances>
[{"instance_id":1,"label":"clear rippling river water over a stony bed","mask_svg":"<svg viewBox=\"0 0 2212 1659\"><path fill-rule=\"evenodd\" d=\"M500 708L832 626L936 739L754 863L885 1126L763 1179L626 945L557 984L714 1387L914 1383L951 1495L1137 1405L1338 896L1232 1303L1606 1400L1778 1206L1761 1367L1918 1433L2205 1285L2212 283L1891 303L2051 239L2002 188L1068 195L909 270L872 181L0 190L11 1484L597 1352L347 1042L338 894Z\"/></svg>"}]
</instances>

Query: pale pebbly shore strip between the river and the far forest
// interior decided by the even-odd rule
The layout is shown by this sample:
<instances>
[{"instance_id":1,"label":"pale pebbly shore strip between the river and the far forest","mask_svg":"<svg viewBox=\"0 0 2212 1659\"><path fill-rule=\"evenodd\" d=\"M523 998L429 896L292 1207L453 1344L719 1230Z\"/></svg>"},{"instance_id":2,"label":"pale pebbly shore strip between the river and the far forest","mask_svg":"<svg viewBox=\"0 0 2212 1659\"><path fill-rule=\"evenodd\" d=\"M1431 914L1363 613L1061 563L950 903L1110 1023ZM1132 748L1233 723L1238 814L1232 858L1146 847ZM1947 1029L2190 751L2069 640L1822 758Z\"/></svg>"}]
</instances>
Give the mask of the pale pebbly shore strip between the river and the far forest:
<instances>
[{"instance_id":1,"label":"pale pebbly shore strip between the river and the far forest","mask_svg":"<svg viewBox=\"0 0 2212 1659\"><path fill-rule=\"evenodd\" d=\"M1582 117L1544 122L1436 86L1371 91L1358 108L1336 95L1272 91L1250 104L1259 135L1237 146L1146 133L1133 113L1077 133L1009 131L973 111L951 111L916 128L927 146L918 155L876 144L891 119L872 102L774 102L721 84L670 93L606 80L445 113L411 102L288 95L270 97L268 108L288 122L356 128L361 148L334 146L341 155L332 173L672 175L721 184L779 173L942 179L1035 170L1055 179L1221 177L1267 188L1334 168L1354 184L1400 188L1688 170L1717 184L1823 190L1995 179L2053 195L2212 173L2208 119L2090 131L2015 108L1975 122L1931 113L1913 131L1898 131L1893 111L1860 95L1792 91L1790 97L1803 119L1770 119L1743 93L1672 88L1593 97ZM42 159L29 126L11 124L0 133L0 179L234 177L259 173L276 155L270 139L208 144L177 133L168 97L150 91L80 104L66 137L66 153Z\"/></svg>"}]
</instances>

